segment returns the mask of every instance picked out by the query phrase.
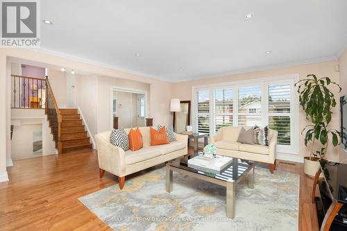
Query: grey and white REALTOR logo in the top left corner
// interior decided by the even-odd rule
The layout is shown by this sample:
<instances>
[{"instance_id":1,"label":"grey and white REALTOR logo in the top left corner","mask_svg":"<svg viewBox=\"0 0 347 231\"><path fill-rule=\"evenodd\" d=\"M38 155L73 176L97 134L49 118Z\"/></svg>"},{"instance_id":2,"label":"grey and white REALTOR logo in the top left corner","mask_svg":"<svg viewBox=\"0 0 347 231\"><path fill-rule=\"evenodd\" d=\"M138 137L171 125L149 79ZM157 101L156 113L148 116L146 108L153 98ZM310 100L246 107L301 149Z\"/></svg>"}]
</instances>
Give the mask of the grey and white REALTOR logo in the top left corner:
<instances>
[{"instance_id":1,"label":"grey and white REALTOR logo in the top left corner","mask_svg":"<svg viewBox=\"0 0 347 231\"><path fill-rule=\"evenodd\" d=\"M38 0L1 1L1 45L38 46Z\"/></svg>"}]
</instances>

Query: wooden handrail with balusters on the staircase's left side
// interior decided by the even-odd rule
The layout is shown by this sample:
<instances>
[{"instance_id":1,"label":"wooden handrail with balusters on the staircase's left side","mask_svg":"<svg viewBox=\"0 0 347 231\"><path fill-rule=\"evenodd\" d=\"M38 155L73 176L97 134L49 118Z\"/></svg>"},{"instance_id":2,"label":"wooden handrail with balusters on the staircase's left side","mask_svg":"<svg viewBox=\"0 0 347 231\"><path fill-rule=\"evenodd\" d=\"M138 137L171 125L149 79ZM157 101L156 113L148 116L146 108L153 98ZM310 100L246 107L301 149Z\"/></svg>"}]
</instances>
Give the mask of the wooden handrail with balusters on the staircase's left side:
<instances>
[{"instance_id":1,"label":"wooden handrail with balusters on the staircase's left side","mask_svg":"<svg viewBox=\"0 0 347 231\"><path fill-rule=\"evenodd\" d=\"M53 89L51 87L51 83L49 83L48 76L46 76L46 107L45 112L48 114L50 123L55 123L55 121L51 121L51 112L49 111L49 93L50 93L50 99L53 101L54 110L56 111L56 123L58 123L58 131L55 132L54 136L56 136L56 146L58 148L58 154L62 154L62 142L61 142L61 123L62 123L62 116L60 114L58 103L56 101L56 97L54 96Z\"/></svg>"}]
</instances>

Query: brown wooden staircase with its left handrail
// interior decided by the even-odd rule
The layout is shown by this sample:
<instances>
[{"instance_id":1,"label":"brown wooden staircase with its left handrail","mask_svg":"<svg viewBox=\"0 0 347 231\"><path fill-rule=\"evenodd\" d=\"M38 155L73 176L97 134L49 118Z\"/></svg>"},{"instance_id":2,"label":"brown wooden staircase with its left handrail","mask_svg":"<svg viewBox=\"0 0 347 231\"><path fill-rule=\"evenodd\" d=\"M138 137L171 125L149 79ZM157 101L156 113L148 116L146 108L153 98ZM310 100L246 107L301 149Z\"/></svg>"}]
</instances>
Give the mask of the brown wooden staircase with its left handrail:
<instances>
[{"instance_id":1,"label":"brown wooden staircase with its left handrail","mask_svg":"<svg viewBox=\"0 0 347 231\"><path fill-rule=\"evenodd\" d=\"M91 149L90 137L85 131L83 120L77 109L58 108L58 103L46 77L46 108L45 112L49 120L49 127L56 142L58 154Z\"/></svg>"}]
</instances>

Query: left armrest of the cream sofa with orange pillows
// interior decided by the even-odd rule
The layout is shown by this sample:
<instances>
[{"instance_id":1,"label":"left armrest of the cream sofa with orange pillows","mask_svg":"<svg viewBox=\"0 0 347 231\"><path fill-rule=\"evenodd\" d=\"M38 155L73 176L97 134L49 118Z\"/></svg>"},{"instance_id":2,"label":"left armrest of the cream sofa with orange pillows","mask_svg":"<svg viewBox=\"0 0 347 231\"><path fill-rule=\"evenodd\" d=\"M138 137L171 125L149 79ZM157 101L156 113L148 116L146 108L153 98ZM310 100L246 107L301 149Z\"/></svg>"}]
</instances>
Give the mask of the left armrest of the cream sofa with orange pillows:
<instances>
[{"instance_id":1,"label":"left armrest of the cream sofa with orange pillows","mask_svg":"<svg viewBox=\"0 0 347 231\"><path fill-rule=\"evenodd\" d=\"M116 176L122 177L126 173L125 152L114 146L101 134L95 135L98 146L99 168Z\"/></svg>"}]
</instances>

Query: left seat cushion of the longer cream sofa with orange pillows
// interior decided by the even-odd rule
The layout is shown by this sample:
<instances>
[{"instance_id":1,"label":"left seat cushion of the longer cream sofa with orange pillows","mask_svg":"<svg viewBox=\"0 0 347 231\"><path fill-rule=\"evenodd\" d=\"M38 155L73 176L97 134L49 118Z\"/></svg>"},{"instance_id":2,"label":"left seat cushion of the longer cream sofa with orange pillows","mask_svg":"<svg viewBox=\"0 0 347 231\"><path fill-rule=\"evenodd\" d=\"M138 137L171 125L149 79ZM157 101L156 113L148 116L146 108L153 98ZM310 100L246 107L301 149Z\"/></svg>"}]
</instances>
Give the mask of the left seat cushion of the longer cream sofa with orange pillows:
<instances>
[{"instance_id":1,"label":"left seat cushion of the longer cream sofa with orange pillows","mask_svg":"<svg viewBox=\"0 0 347 231\"><path fill-rule=\"evenodd\" d=\"M137 151L126 151L126 165L135 164L144 160L160 156L162 151L158 148L144 147Z\"/></svg>"}]
</instances>

